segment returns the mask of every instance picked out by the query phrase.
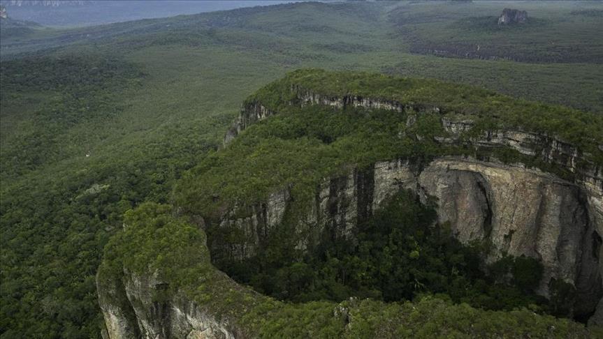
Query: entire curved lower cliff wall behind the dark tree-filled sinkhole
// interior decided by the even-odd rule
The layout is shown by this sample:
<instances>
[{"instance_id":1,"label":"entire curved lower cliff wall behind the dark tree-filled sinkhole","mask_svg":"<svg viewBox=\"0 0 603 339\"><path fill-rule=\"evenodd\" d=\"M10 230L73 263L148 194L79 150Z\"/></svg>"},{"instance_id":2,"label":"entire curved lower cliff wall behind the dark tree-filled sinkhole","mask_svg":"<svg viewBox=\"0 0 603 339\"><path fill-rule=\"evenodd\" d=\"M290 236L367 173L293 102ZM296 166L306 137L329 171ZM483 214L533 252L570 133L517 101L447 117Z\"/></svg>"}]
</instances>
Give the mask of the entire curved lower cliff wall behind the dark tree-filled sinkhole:
<instances>
[{"instance_id":1,"label":"entire curved lower cliff wall behind the dark tree-filled sinkhole","mask_svg":"<svg viewBox=\"0 0 603 339\"><path fill-rule=\"evenodd\" d=\"M439 223L449 223L463 243L486 241L494 262L504 254L539 259L544 266L539 294L550 295L553 280L576 287L576 315L588 315L603 296L603 218L583 186L521 165L445 157L421 168L408 160L376 163L317 187L314 201L296 231L300 248L317 234L351 236L354 227L400 188L414 190L424 203L435 201ZM235 248L238 257L253 253L261 234L282 221L286 194L273 195L259 214L220 226L240 227L254 239ZM265 216L279 216L266 218Z\"/></svg>"}]
</instances>

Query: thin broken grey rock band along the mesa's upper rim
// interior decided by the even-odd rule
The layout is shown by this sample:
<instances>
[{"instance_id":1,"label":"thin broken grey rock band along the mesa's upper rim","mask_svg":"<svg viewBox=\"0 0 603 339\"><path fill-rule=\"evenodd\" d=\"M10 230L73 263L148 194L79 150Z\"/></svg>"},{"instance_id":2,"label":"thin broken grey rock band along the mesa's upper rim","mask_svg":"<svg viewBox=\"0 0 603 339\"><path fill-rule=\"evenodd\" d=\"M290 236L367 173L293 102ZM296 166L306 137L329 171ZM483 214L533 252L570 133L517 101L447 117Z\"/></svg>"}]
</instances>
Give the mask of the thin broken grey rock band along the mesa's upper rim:
<instances>
[{"instance_id":1,"label":"thin broken grey rock band along the mesa's upper rim","mask_svg":"<svg viewBox=\"0 0 603 339\"><path fill-rule=\"evenodd\" d=\"M472 132L474 127L476 127L474 121L472 119L453 119L446 115L445 110L433 105L400 103L397 100L358 95L324 95L296 84L292 84L290 90L294 94L294 98L293 100L289 100L288 104L295 107L324 105L342 110L346 107L360 107L366 110L393 110L413 114L417 112L440 113L442 114L442 127L450 136L436 137L437 142L445 144L464 142L481 147L507 146L525 156L537 156L547 163L563 167L569 172L576 174L576 179L583 182L590 190L603 191L603 167L586 159L583 156L583 151L578 147L551 135L518 129L505 130L498 128L494 130L482 130L478 135L467 139L464 136ZM224 136L224 146L253 123L277 113L275 110L270 110L270 108L263 105L259 100L249 100L242 105L240 115ZM409 124L412 123L413 120L409 119ZM603 149L603 145L599 145L598 147L599 149Z\"/></svg>"}]
</instances>

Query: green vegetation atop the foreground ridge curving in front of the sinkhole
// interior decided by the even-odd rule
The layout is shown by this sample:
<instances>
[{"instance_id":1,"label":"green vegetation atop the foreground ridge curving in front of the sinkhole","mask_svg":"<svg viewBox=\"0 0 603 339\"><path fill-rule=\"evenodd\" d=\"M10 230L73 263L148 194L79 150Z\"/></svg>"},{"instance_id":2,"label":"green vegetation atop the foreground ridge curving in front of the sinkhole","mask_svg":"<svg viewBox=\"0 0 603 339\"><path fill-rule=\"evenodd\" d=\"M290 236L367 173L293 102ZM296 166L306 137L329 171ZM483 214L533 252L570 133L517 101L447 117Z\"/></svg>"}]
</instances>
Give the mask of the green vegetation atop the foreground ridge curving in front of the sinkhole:
<instances>
[{"instance_id":1,"label":"green vegetation atop the foreground ridge curving in front of the sinkhole","mask_svg":"<svg viewBox=\"0 0 603 339\"><path fill-rule=\"evenodd\" d=\"M210 310L229 328L258 338L596 338L601 334L597 329L537 315L525 308L484 311L433 296L414 303L372 299L342 303L277 301L238 286L213 268L203 232L174 217L171 210L167 205L143 204L128 211L124 229L106 246L99 280L119 281L124 269L142 274L158 270L169 291L161 302L169 303L176 294L184 295Z\"/></svg>"}]
</instances>

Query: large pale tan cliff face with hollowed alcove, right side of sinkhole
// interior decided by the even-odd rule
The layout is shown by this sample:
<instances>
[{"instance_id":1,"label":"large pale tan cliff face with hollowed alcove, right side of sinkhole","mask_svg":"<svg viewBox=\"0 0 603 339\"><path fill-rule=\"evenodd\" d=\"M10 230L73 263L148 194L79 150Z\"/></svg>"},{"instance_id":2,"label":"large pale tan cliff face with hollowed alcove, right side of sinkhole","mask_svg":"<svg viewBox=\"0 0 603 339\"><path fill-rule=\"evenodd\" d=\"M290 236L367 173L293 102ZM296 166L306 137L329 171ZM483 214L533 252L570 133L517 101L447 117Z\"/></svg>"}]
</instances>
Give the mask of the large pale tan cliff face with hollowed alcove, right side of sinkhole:
<instances>
[{"instance_id":1,"label":"large pale tan cliff face with hollowed alcove, right side of sinkhole","mask_svg":"<svg viewBox=\"0 0 603 339\"><path fill-rule=\"evenodd\" d=\"M504 253L542 262L539 294L555 280L578 295L574 314L593 312L603 295L600 230L579 186L542 172L466 160L435 160L419 176L426 195L437 197L440 222L464 243L486 240L495 261Z\"/></svg>"}]
</instances>

